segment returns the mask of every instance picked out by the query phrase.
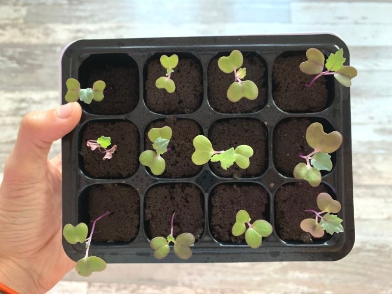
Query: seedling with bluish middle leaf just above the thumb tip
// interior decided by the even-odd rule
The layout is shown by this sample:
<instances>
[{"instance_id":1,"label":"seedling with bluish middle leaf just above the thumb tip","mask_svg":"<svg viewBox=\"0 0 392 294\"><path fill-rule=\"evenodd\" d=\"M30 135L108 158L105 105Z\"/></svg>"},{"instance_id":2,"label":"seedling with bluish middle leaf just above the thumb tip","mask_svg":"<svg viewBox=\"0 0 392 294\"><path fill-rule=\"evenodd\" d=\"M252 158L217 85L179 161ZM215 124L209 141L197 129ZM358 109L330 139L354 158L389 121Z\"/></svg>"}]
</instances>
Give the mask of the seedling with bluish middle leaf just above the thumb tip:
<instances>
[{"instance_id":1,"label":"seedling with bluish middle leaf just above the thumb tip","mask_svg":"<svg viewBox=\"0 0 392 294\"><path fill-rule=\"evenodd\" d=\"M67 102L75 102L80 99L80 101L90 104L93 100L97 102L103 100L103 90L106 87L104 81L96 81L93 88L86 89L80 89L80 83L74 78L67 79L65 84L67 86L67 94L65 94Z\"/></svg>"}]
</instances>

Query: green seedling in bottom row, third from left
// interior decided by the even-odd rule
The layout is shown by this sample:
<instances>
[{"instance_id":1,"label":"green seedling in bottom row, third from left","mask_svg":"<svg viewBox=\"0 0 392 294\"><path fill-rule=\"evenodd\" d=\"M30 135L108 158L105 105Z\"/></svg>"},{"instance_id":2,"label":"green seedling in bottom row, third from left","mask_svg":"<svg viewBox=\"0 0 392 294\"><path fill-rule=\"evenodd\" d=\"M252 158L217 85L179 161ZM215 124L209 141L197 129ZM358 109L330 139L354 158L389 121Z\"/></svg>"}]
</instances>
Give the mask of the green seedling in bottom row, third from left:
<instances>
[{"instance_id":1,"label":"green seedling in bottom row, third from left","mask_svg":"<svg viewBox=\"0 0 392 294\"><path fill-rule=\"evenodd\" d=\"M248 225L246 229L245 223ZM236 222L231 228L233 236L241 236L245 233L245 241L251 248L259 248L261 246L262 237L266 238L272 233L272 226L268 221L257 220L250 223L249 214L241 209L237 212Z\"/></svg>"}]
</instances>

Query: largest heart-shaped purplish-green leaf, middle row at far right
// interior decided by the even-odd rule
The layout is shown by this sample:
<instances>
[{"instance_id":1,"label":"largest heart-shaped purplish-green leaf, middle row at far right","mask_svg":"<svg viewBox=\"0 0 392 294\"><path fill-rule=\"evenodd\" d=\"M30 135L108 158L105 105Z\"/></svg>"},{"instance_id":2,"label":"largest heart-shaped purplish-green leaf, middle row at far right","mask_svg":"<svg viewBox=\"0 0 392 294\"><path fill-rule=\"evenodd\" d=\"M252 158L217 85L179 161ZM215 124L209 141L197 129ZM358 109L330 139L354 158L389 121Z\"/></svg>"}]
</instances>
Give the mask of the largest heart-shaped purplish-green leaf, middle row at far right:
<instances>
[{"instance_id":1,"label":"largest heart-shaped purplish-green leaf, middle row at far right","mask_svg":"<svg viewBox=\"0 0 392 294\"><path fill-rule=\"evenodd\" d=\"M321 123L312 123L306 130L306 142L319 152L332 153L342 145L343 137L338 131L326 134Z\"/></svg>"}]
</instances>

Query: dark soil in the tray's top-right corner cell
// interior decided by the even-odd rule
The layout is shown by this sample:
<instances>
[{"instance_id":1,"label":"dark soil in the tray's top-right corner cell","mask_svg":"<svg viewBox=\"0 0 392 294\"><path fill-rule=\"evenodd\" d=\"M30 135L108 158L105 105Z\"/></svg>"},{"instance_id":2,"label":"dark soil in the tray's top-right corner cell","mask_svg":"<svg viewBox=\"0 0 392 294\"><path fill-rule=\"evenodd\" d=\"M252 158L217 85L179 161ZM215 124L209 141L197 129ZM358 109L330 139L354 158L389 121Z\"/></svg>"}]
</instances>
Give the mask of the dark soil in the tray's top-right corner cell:
<instances>
[{"instance_id":1,"label":"dark soil in the tray's top-right corner cell","mask_svg":"<svg viewBox=\"0 0 392 294\"><path fill-rule=\"evenodd\" d=\"M329 105L329 96L333 95L333 77L321 76L312 87L305 87L315 76L299 70L301 62L306 60L303 53L280 56L273 63L272 98L283 111L318 112Z\"/></svg>"}]
</instances>

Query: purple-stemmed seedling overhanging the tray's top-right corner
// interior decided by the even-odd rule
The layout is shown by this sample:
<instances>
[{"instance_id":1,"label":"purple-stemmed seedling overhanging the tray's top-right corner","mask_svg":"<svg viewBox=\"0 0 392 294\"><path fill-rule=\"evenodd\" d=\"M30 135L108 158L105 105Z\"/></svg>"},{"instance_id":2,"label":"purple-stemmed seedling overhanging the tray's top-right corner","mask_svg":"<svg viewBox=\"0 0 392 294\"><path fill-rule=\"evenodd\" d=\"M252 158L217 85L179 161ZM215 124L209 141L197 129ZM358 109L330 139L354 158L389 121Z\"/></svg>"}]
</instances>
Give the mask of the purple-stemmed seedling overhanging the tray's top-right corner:
<instances>
[{"instance_id":1,"label":"purple-stemmed seedling overhanging the tray's top-right corner","mask_svg":"<svg viewBox=\"0 0 392 294\"><path fill-rule=\"evenodd\" d=\"M351 86L351 79L357 76L357 70L349 65L343 65L346 60L343 57L343 49L339 49L335 54L331 53L325 62L325 68L323 72L325 57L322 52L316 48L311 48L306 51L307 61L302 62L299 65L301 72L306 74L317 74L310 84L306 87L312 87L314 82L322 75L333 74L335 78L345 87Z\"/></svg>"}]
</instances>

